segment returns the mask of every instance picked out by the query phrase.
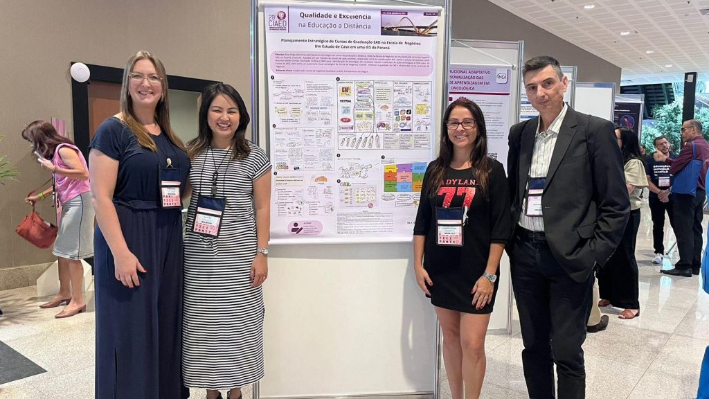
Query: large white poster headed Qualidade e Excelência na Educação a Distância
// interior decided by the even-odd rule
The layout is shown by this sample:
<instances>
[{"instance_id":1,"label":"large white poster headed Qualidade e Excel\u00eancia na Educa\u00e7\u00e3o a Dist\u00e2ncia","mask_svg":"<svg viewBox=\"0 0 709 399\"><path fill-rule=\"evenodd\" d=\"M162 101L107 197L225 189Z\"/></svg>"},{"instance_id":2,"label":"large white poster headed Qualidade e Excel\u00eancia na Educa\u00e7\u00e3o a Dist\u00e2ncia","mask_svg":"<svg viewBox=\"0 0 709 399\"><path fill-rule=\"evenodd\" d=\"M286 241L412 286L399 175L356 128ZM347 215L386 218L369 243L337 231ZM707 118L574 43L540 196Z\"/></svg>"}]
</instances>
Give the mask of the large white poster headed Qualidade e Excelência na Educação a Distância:
<instances>
[{"instance_id":1,"label":"large white poster headed Qualidade e Excel\u00eancia na Educa\u00e7\u00e3o a Dist\u00e2ncia","mask_svg":"<svg viewBox=\"0 0 709 399\"><path fill-rule=\"evenodd\" d=\"M268 5L271 241L411 241L439 9Z\"/></svg>"}]
</instances>

